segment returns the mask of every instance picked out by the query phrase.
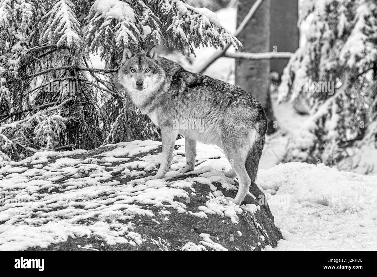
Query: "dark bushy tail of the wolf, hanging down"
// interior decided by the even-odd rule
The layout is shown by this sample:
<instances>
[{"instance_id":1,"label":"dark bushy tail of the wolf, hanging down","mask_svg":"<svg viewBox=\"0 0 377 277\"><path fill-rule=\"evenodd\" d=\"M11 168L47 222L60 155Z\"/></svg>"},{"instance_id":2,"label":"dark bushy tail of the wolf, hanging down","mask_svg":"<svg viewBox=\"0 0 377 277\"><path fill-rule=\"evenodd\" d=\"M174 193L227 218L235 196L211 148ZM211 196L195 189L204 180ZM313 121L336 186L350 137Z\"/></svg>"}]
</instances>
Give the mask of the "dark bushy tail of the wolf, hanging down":
<instances>
[{"instance_id":1,"label":"dark bushy tail of the wolf, hanging down","mask_svg":"<svg viewBox=\"0 0 377 277\"><path fill-rule=\"evenodd\" d=\"M261 159L262 156L265 133L267 129L267 120L263 120L261 123L262 124L259 125L256 132L255 141L251 146L245 161L245 168L251 179L251 184L253 184L257 178L259 159Z\"/></svg>"}]
</instances>

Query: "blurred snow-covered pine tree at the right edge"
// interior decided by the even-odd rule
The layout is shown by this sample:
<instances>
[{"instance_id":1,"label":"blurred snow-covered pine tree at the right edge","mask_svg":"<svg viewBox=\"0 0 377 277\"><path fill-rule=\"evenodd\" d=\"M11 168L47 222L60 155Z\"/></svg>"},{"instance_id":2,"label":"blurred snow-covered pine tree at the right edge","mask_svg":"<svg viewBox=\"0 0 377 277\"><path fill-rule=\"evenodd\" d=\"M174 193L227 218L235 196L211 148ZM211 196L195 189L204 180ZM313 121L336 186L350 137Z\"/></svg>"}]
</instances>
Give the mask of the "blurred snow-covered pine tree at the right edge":
<instances>
[{"instance_id":1,"label":"blurred snow-covered pine tree at the right edge","mask_svg":"<svg viewBox=\"0 0 377 277\"><path fill-rule=\"evenodd\" d=\"M377 3L306 0L302 9L306 43L284 71L279 100L303 102L309 118L285 161L336 164L350 145L377 148Z\"/></svg>"}]
</instances>

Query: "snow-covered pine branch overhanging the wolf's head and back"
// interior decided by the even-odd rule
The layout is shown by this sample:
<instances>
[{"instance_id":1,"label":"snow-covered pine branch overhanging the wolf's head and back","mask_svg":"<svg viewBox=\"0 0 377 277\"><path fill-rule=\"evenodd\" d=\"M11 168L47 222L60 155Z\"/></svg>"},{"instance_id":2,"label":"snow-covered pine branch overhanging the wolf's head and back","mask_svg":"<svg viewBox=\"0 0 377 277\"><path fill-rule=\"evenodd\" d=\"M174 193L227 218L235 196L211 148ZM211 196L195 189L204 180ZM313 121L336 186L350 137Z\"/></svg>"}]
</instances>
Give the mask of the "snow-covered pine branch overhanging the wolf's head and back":
<instances>
[{"instance_id":1,"label":"snow-covered pine branch overhanging the wolf's head and back","mask_svg":"<svg viewBox=\"0 0 377 277\"><path fill-rule=\"evenodd\" d=\"M240 46L213 12L193 8L179 0L134 0L129 3L96 0L87 21L86 43L91 51L99 51L102 55L107 55L107 51L120 53L124 46L139 51L162 42L191 54L194 54L194 47L200 46Z\"/></svg>"}]
</instances>

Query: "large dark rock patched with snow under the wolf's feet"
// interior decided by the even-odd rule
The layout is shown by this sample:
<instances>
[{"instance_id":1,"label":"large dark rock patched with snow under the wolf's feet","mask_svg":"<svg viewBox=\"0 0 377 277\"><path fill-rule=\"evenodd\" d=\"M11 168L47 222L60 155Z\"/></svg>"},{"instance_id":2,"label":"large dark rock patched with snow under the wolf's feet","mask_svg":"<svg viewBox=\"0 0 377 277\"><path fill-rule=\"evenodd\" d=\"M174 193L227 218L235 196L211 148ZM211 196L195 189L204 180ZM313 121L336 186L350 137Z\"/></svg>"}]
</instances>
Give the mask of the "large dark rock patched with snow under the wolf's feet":
<instances>
[{"instance_id":1,"label":"large dark rock patched with snow under the wolf's feet","mask_svg":"<svg viewBox=\"0 0 377 277\"><path fill-rule=\"evenodd\" d=\"M145 181L158 169L161 142L155 141L39 152L0 169L0 249L276 247L282 235L257 185L241 206L228 202L238 184L221 173L229 164L220 148L198 145L196 170L181 174L183 143L177 141L164 180Z\"/></svg>"}]
</instances>

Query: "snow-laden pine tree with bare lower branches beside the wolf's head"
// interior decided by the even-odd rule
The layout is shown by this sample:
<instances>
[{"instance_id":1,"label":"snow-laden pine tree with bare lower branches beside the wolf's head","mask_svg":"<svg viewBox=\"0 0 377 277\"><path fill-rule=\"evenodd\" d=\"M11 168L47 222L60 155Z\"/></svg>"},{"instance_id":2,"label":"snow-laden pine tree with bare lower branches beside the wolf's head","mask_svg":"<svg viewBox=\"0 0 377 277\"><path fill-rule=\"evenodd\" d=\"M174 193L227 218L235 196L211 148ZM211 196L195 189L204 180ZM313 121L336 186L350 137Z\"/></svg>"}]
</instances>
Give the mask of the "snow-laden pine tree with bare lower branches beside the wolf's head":
<instances>
[{"instance_id":1,"label":"snow-laden pine tree with bare lower branches beside the wolf's head","mask_svg":"<svg viewBox=\"0 0 377 277\"><path fill-rule=\"evenodd\" d=\"M157 138L115 82L124 47L153 44L183 54L240 46L213 12L179 0L0 0L0 165L40 149Z\"/></svg>"}]
</instances>

